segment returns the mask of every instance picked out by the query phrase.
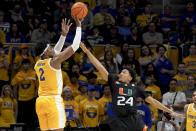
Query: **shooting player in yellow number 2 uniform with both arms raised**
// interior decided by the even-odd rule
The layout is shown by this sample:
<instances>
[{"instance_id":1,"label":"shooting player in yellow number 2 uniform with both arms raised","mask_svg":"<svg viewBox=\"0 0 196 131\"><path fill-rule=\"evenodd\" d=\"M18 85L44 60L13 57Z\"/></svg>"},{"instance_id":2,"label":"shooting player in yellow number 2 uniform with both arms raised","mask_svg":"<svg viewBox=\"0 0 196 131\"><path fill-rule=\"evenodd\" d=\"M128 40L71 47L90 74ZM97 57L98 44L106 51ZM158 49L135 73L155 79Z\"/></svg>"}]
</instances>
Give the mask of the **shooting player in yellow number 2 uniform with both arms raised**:
<instances>
[{"instance_id":1,"label":"shooting player in yellow number 2 uniform with both arms raised","mask_svg":"<svg viewBox=\"0 0 196 131\"><path fill-rule=\"evenodd\" d=\"M81 40L81 20L75 18L77 25L73 44L61 52L65 37L72 25L62 20L62 35L53 48L49 44L45 48L40 44L36 50L42 51L41 59L35 64L35 71L39 79L39 97L36 100L36 113L38 115L41 130L63 131L65 127L65 111L63 99L61 98L63 80L61 63L68 59L79 48Z\"/></svg>"}]
</instances>

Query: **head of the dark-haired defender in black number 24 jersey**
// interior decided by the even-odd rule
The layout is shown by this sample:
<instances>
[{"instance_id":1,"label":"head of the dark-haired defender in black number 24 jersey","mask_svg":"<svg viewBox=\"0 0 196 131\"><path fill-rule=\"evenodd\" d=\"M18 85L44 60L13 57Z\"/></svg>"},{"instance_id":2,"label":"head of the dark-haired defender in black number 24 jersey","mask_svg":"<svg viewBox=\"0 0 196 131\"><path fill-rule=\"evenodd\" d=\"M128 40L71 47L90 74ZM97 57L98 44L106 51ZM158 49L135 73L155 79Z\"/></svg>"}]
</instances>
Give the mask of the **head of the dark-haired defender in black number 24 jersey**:
<instances>
[{"instance_id":1,"label":"head of the dark-haired defender in black number 24 jersey","mask_svg":"<svg viewBox=\"0 0 196 131\"><path fill-rule=\"evenodd\" d=\"M124 83L130 83L135 81L135 71L129 67L123 67L120 73L119 81Z\"/></svg>"}]
</instances>

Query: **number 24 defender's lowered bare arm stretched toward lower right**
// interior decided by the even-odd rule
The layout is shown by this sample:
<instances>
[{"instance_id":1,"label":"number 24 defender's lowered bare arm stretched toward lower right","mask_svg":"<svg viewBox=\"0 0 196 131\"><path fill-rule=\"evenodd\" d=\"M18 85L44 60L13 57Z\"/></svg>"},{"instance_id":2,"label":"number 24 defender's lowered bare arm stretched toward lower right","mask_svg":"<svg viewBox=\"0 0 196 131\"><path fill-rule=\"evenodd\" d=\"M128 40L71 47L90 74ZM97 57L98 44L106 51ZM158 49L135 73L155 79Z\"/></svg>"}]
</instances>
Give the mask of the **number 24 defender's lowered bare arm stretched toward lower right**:
<instances>
[{"instance_id":1,"label":"number 24 defender's lowered bare arm stretched toward lower right","mask_svg":"<svg viewBox=\"0 0 196 131\"><path fill-rule=\"evenodd\" d=\"M154 98L152 98L151 96L148 96L145 99L145 101L148 102L149 104L153 105L154 107L162 110L162 111L170 113L174 117L184 118L184 115L173 112L171 109L167 108L166 106L164 106L159 101L157 101Z\"/></svg>"}]
</instances>

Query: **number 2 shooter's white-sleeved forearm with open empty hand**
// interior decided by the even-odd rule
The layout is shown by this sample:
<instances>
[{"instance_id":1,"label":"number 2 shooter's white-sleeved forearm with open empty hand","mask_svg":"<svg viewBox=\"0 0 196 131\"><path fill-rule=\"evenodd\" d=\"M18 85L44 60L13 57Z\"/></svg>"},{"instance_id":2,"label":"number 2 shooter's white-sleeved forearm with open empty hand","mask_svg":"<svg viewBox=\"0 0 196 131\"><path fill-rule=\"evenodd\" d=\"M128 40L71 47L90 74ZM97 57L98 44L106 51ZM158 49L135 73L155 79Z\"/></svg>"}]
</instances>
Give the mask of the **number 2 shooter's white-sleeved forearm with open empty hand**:
<instances>
[{"instance_id":1,"label":"number 2 shooter's white-sleeved forearm with open empty hand","mask_svg":"<svg viewBox=\"0 0 196 131\"><path fill-rule=\"evenodd\" d=\"M56 43L55 47L54 47L54 51L55 51L55 54L59 54L63 48L63 45L64 45L64 42L65 42L65 39L66 39L66 36L69 32L69 28L71 27L72 23L70 23L70 20L67 21L67 19L62 19L62 22L61 22L61 30L62 30L62 33L61 33L61 36L59 38L59 41Z\"/></svg>"}]
</instances>

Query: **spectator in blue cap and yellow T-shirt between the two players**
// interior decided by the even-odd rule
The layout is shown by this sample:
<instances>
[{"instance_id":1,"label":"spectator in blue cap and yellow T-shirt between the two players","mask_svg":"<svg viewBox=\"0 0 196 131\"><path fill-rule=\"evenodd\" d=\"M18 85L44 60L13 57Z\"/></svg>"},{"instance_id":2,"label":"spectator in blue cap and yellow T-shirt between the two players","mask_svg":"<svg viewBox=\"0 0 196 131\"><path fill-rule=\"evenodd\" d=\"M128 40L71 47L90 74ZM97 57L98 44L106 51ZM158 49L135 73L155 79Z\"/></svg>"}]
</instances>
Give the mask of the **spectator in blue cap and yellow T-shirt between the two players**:
<instances>
[{"instance_id":1,"label":"spectator in blue cap and yellow T-shirt between the two players","mask_svg":"<svg viewBox=\"0 0 196 131\"><path fill-rule=\"evenodd\" d=\"M87 87L88 98L80 102L80 123L84 127L96 127L102 121L104 114L102 106L95 100L95 87Z\"/></svg>"}]
</instances>

